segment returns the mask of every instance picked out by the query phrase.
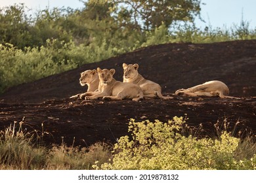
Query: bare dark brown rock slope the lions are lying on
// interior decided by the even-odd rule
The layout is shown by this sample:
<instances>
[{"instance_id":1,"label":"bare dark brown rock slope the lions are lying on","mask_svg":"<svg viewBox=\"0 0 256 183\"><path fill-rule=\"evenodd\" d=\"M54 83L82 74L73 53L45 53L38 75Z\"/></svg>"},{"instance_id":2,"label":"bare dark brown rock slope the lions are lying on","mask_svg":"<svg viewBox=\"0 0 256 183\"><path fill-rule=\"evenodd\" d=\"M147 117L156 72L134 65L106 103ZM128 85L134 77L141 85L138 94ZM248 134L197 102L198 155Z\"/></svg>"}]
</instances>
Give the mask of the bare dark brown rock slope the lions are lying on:
<instances>
[{"instance_id":1,"label":"bare dark brown rock slope the lions are lying on","mask_svg":"<svg viewBox=\"0 0 256 183\"><path fill-rule=\"evenodd\" d=\"M139 73L160 84L163 95L173 99L147 99L139 102L84 101L69 99L85 92L79 75L87 69L116 69L114 77L122 80L123 63L138 63ZM221 80L230 95L219 97L181 97L176 90L209 80ZM186 116L186 124L202 135L216 135L216 125L234 135L256 132L256 40L216 42L212 44L173 43L148 46L97 63L9 88L0 95L0 130L14 122L24 122L22 129L43 133L45 144L89 146L95 142L116 142L129 135L128 123L173 116ZM18 124L16 124L18 127Z\"/></svg>"}]
</instances>

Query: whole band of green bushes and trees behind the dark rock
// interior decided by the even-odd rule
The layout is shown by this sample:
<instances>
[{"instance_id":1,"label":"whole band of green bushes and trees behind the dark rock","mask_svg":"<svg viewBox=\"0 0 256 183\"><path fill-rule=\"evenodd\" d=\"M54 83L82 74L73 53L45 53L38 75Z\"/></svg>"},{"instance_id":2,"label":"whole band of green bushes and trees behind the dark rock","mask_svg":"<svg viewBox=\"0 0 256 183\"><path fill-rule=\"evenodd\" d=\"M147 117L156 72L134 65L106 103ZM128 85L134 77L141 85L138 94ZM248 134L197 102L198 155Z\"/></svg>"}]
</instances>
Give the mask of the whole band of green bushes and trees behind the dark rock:
<instances>
[{"instance_id":1,"label":"whole band of green bushes and trees behind the dark rock","mask_svg":"<svg viewBox=\"0 0 256 183\"><path fill-rule=\"evenodd\" d=\"M89 0L80 9L46 8L35 16L24 4L1 8L0 93L152 44L256 38L244 20L229 30L198 29L200 6L199 0Z\"/></svg>"}]
</instances>

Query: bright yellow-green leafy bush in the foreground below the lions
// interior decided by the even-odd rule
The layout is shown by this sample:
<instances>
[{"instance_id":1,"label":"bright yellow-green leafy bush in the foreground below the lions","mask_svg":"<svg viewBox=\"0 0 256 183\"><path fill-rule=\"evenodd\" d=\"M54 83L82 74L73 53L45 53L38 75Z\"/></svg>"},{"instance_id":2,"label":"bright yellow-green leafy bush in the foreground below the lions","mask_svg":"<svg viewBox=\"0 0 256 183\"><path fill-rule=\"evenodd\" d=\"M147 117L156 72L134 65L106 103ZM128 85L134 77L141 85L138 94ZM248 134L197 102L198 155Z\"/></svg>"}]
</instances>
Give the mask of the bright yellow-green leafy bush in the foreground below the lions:
<instances>
[{"instance_id":1,"label":"bright yellow-green leafy bush in the foreground below the lions","mask_svg":"<svg viewBox=\"0 0 256 183\"><path fill-rule=\"evenodd\" d=\"M182 135L185 121L129 123L131 139L121 137L114 158L96 169L256 169L256 155L236 157L240 139L223 131L219 139Z\"/></svg>"}]
</instances>

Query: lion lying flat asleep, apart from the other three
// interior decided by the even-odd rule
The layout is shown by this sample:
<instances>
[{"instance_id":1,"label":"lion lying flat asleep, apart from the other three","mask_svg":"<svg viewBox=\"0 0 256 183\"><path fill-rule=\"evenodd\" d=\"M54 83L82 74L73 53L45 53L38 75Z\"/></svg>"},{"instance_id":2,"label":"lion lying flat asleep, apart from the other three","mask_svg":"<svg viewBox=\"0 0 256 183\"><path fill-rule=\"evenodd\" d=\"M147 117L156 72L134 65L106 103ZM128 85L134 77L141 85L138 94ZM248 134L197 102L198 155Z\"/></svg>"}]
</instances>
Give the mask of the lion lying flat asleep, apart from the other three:
<instances>
[{"instance_id":1,"label":"lion lying flat asleep, apart from the other three","mask_svg":"<svg viewBox=\"0 0 256 183\"><path fill-rule=\"evenodd\" d=\"M203 84L199 84L197 86L194 86L192 88L188 89L179 89L175 92L176 95L186 95L191 97L197 97L197 96L208 96L208 97L214 97L219 96L221 98L236 98L236 97L230 97L229 89L226 84L219 80L211 80L208 82L205 82ZM238 99L238 98L236 98Z\"/></svg>"}]
</instances>

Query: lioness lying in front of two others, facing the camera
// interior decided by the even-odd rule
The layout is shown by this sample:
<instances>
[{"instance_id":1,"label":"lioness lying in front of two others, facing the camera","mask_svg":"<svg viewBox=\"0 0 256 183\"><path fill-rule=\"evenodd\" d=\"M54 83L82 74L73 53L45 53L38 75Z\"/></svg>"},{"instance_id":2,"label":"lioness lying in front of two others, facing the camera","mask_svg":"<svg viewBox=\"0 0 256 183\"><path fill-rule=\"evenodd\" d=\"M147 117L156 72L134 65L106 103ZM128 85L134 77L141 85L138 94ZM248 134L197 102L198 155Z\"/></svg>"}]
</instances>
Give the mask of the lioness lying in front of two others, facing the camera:
<instances>
[{"instance_id":1,"label":"lioness lying in front of two others, facing the camera","mask_svg":"<svg viewBox=\"0 0 256 183\"><path fill-rule=\"evenodd\" d=\"M132 83L123 83L113 78L115 69L97 68L98 77L100 79L99 91L93 96L87 96L85 99L98 99L103 97L107 100L133 99L139 101L143 99L143 93L139 86Z\"/></svg>"}]
</instances>

